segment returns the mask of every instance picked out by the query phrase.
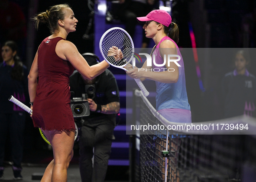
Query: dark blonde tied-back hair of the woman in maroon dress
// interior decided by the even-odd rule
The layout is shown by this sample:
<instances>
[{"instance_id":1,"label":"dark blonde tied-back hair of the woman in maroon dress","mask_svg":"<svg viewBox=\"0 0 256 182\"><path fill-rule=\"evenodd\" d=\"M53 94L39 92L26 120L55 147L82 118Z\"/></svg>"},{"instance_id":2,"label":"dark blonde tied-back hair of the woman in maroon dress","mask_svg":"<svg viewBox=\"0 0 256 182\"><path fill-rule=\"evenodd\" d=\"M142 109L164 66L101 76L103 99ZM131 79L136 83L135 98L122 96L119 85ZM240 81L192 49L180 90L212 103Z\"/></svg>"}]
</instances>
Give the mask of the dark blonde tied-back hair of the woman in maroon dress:
<instances>
[{"instance_id":1,"label":"dark blonde tied-back hair of the woman in maroon dress","mask_svg":"<svg viewBox=\"0 0 256 182\"><path fill-rule=\"evenodd\" d=\"M48 23L49 29L53 34L55 30L58 30L58 20L65 19L65 8L71 8L68 4L59 4L51 6L49 10L39 13L32 17L32 20L36 22L36 29L39 27L39 23Z\"/></svg>"}]
</instances>

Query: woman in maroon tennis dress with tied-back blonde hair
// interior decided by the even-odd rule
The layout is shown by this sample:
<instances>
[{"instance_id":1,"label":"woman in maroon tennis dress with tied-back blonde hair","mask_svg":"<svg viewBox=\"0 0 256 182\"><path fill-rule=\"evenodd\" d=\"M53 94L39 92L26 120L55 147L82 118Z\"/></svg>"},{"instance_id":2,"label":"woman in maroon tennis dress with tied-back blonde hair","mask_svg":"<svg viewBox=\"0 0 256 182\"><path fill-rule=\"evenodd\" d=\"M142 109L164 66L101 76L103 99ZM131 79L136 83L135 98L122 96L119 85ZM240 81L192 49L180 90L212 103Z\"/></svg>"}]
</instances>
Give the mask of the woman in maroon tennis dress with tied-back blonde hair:
<instances>
[{"instance_id":1,"label":"woman in maroon tennis dress with tied-back blonde hair","mask_svg":"<svg viewBox=\"0 0 256 182\"><path fill-rule=\"evenodd\" d=\"M69 76L75 68L91 80L104 72L109 64L102 61L90 67L75 45L66 41L68 33L76 30L78 22L67 4L52 6L33 19L36 28L39 22L49 23L52 32L39 45L28 76L33 123L49 139L54 155L41 182L66 182L75 138Z\"/></svg>"}]
</instances>

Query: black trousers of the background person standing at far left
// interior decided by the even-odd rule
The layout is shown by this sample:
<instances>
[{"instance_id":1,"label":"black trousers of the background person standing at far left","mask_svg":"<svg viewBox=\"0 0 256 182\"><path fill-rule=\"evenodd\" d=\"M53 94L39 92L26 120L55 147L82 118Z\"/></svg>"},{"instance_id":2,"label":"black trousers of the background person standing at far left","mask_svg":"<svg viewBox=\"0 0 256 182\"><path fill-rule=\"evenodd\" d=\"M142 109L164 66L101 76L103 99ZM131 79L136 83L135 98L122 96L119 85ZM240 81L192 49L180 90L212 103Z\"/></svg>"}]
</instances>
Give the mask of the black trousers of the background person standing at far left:
<instances>
[{"instance_id":1,"label":"black trousers of the background person standing at far left","mask_svg":"<svg viewBox=\"0 0 256 182\"><path fill-rule=\"evenodd\" d=\"M25 120L24 112L0 113L0 167L3 166L5 143L9 132L13 166L21 168Z\"/></svg>"}]
</instances>

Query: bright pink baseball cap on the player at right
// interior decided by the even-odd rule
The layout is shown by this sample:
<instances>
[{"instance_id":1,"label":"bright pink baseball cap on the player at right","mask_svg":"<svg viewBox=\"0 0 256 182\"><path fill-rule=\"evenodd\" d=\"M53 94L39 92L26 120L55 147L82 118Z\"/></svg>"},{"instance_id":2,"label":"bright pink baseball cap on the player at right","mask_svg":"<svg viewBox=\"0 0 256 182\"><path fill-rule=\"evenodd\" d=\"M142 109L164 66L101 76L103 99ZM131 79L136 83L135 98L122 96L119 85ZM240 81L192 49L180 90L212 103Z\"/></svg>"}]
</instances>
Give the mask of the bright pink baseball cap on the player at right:
<instances>
[{"instance_id":1,"label":"bright pink baseball cap on the player at right","mask_svg":"<svg viewBox=\"0 0 256 182\"><path fill-rule=\"evenodd\" d=\"M172 17L169 15L169 13L162 9L153 10L147 14L147 16L138 17L137 20L139 23L153 20L167 27L169 27L169 25L172 23Z\"/></svg>"}]
</instances>

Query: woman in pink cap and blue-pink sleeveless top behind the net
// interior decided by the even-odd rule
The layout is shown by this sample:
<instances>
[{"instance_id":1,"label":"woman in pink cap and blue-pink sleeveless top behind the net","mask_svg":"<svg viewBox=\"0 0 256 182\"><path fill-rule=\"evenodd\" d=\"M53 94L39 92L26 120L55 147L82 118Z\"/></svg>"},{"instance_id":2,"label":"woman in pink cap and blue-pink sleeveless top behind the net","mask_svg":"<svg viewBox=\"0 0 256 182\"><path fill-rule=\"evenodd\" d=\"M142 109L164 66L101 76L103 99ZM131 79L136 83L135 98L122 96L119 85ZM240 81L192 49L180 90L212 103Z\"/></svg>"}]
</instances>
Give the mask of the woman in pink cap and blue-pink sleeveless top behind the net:
<instances>
[{"instance_id":1,"label":"woman in pink cap and blue-pink sleeveless top behind the net","mask_svg":"<svg viewBox=\"0 0 256 182\"><path fill-rule=\"evenodd\" d=\"M144 70L132 69L129 64L127 74L131 78L146 78L156 81L156 110L170 122L191 122L190 105L185 85L184 63L178 49L178 25L172 22L172 18L164 10L156 9L145 17L138 17L143 22L143 28L147 38L152 38L156 46L151 56L156 56L156 66L143 64ZM178 55L181 60L168 62L167 55ZM169 59L176 60L177 57ZM152 71L148 71L151 70ZM147 70L147 71L146 71ZM155 70L155 71L154 71Z\"/></svg>"}]
</instances>

